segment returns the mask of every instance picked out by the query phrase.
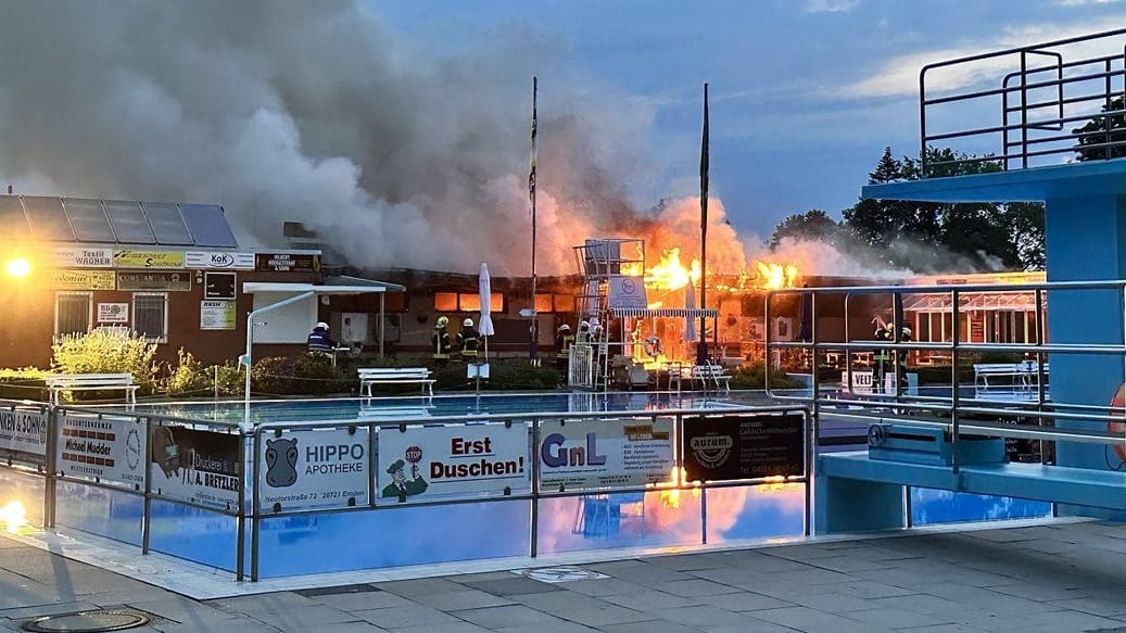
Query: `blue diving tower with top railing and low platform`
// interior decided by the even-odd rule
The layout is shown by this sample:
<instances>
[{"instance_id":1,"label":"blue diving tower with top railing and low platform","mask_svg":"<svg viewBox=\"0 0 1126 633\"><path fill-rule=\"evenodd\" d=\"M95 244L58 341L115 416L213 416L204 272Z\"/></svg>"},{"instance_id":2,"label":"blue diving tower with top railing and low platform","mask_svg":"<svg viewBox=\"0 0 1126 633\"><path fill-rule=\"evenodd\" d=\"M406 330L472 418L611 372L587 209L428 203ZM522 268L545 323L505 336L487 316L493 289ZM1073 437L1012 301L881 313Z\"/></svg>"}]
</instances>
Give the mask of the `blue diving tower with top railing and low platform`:
<instances>
[{"instance_id":1,"label":"blue diving tower with top railing and low platform","mask_svg":"<svg viewBox=\"0 0 1126 633\"><path fill-rule=\"evenodd\" d=\"M867 452L822 455L816 529L901 527L904 485L1054 501L1060 514L1121 519L1126 425L1115 421L1121 402L1111 401L1126 366L1126 29L929 64L919 90L922 178L866 186L861 195L1044 203L1047 283L1035 292L1045 294L1047 336L1029 349L1051 356L1051 403L1042 400L1039 412L1055 463L1006 463L982 425L964 426L977 442L959 443L955 394L953 456L937 448L950 443L949 427L913 428L902 418L873 425ZM977 155L928 157L928 148L947 146ZM989 167L947 176L966 161Z\"/></svg>"}]
</instances>

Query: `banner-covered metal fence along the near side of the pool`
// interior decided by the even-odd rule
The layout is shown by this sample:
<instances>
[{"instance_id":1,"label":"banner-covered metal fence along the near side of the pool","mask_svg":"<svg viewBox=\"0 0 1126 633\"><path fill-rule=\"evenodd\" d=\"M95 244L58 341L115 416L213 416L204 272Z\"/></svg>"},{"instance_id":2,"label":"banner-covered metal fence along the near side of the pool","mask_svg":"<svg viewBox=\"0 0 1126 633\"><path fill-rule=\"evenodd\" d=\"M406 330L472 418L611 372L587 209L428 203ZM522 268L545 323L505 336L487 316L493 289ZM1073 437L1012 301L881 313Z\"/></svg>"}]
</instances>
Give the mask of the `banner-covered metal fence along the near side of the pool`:
<instances>
[{"instance_id":1,"label":"banner-covered metal fence along the near side of the pool","mask_svg":"<svg viewBox=\"0 0 1126 633\"><path fill-rule=\"evenodd\" d=\"M260 577L263 524L315 524L347 512L522 501L530 515L524 554L536 556L540 505L553 499L699 491L699 542L706 544L707 490L786 482L804 484L803 534L811 529L813 442L802 405L402 416L249 429L28 401L0 407L0 429L8 431L0 434L0 473L11 475L8 488L27 499L25 507L39 494L19 484L43 479L42 488L30 488L42 491L45 529L66 525L140 545L142 554L233 571L236 580ZM155 507L179 508L172 523L227 517L233 544L226 523L215 529L218 543L208 542L206 531L198 537L181 528L154 533ZM394 547L378 534L356 537Z\"/></svg>"}]
</instances>

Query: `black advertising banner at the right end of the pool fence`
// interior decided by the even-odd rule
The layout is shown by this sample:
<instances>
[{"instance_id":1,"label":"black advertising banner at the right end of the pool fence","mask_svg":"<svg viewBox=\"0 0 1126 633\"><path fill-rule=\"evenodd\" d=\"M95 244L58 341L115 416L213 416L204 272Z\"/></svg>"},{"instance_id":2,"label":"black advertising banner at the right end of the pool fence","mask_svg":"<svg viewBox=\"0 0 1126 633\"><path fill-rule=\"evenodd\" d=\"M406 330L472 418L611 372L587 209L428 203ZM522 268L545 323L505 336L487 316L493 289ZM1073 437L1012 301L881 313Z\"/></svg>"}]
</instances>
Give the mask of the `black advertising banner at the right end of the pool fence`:
<instances>
[{"instance_id":1,"label":"black advertising banner at the right end of the pool fence","mask_svg":"<svg viewBox=\"0 0 1126 633\"><path fill-rule=\"evenodd\" d=\"M801 414L685 418L685 476L687 481L801 476L804 428Z\"/></svg>"}]
</instances>

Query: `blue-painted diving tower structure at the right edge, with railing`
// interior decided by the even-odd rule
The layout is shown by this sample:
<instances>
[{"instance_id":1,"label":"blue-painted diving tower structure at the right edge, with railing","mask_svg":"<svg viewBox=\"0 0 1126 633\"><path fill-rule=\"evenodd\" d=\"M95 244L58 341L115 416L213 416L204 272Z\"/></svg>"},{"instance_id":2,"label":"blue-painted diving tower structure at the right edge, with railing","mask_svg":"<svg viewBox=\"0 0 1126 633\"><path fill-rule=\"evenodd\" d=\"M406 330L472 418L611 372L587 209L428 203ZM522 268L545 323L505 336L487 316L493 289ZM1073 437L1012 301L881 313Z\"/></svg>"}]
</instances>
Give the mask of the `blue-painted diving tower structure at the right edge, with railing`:
<instances>
[{"instance_id":1,"label":"blue-painted diving tower structure at the right edge, with railing","mask_svg":"<svg viewBox=\"0 0 1126 633\"><path fill-rule=\"evenodd\" d=\"M1061 39L998 53L974 55L931 64L920 73L920 150L922 171L930 175L926 149L932 142L957 148L959 141L1000 136L1000 152L991 159L1003 171L924 178L922 180L870 185L865 198L937 203L1043 202L1047 280L1084 282L1126 278L1126 137L1111 130L1112 117L1123 116L1121 83L1126 77L1124 56L1126 29ZM1092 46L1107 54L1091 56ZM1082 46L1083 59L1067 59L1064 51ZM929 71L950 66L967 70L973 64L1011 60L1012 71L1000 78L999 87L940 88L927 93ZM1001 64L1003 65L1003 64ZM977 80L984 74L965 72ZM1094 88L1092 89L1092 82ZM1047 90L1047 92L1045 92ZM929 121L957 121L936 112L959 105L981 106L994 99L1001 126L936 130ZM1107 125L1097 137L1080 139L1072 131L1090 116L1064 115L1064 104L1101 107ZM1058 113L1056 113L1058 109ZM978 115L981 116L981 115ZM929 119L930 117L930 119ZM984 117L982 117L984 118ZM965 124L962 124L965 125ZM1071 132L1071 134L1067 134ZM1035 166L1036 159L1074 160L1074 148L1084 144L1084 162ZM1108 160L1096 160L1094 152ZM1013 169L1016 163L1017 169ZM933 166L931 166L933 167ZM1124 345L1124 298L1116 289L1089 288L1047 294L1047 337L1052 346ZM1043 351L1043 350L1042 350ZM1052 399L1074 405L1107 407L1124 380L1120 354L1060 353L1052 356ZM1057 428L1108 430L1106 422L1057 419ZM1099 426L1101 425L1101 429ZM815 523L817 532L901 527L904 517L902 484L946 490L974 491L1025 499L1043 499L1064 505L1061 514L1080 514L1121 519L1126 517L1126 474L1109 471L1105 445L1058 442L1058 466L1031 464L973 464L960 471L945 465L873 460L867 453L822 455L817 460Z\"/></svg>"}]
</instances>

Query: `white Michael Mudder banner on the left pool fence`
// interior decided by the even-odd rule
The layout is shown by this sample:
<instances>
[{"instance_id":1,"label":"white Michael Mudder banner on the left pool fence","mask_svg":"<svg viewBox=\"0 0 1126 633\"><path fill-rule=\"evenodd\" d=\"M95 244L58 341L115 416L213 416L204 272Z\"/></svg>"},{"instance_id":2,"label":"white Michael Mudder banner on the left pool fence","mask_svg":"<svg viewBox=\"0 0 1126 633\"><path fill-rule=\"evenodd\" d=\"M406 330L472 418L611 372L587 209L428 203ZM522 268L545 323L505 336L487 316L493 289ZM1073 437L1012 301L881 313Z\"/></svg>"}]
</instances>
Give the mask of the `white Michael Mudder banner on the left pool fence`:
<instances>
[{"instance_id":1,"label":"white Michael Mudder banner on the left pool fence","mask_svg":"<svg viewBox=\"0 0 1126 633\"><path fill-rule=\"evenodd\" d=\"M55 464L65 476L140 490L146 446L138 418L61 416Z\"/></svg>"}]
</instances>

